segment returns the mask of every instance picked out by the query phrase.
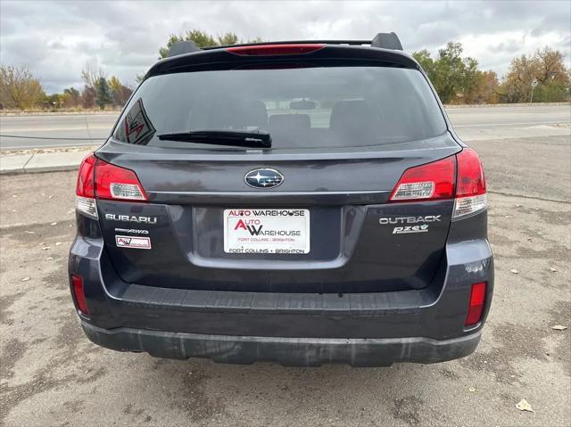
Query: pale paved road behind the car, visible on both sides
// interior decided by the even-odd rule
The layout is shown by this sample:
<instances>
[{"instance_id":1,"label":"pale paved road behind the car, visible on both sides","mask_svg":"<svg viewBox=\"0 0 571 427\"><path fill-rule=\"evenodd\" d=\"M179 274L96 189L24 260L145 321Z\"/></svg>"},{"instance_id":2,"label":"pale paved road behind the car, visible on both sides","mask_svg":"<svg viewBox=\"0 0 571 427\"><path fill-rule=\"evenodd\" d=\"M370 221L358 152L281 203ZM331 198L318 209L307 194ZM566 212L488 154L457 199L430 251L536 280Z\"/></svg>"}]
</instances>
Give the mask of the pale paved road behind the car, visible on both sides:
<instances>
[{"instance_id":1,"label":"pale paved road behind the car, visible on both sides","mask_svg":"<svg viewBox=\"0 0 571 427\"><path fill-rule=\"evenodd\" d=\"M529 135L529 132L546 135L546 130L550 129L542 127L571 123L569 104L459 107L447 111L455 129L466 141L511 134L515 127L521 129L521 136ZM109 135L116 119L116 113L0 116L0 149L99 144ZM547 132L547 135L561 135L561 129Z\"/></svg>"}]
</instances>

